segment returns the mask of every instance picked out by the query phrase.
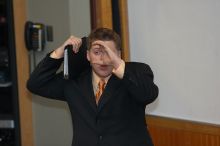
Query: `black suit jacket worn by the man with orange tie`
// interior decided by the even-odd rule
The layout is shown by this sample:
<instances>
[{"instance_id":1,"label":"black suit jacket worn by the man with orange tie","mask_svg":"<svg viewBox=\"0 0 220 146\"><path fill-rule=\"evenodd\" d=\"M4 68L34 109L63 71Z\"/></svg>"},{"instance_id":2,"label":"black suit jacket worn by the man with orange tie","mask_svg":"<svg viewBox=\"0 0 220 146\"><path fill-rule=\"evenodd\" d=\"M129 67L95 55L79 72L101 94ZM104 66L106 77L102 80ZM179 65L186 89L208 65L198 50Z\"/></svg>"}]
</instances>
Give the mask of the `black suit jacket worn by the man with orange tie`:
<instances>
[{"instance_id":1,"label":"black suit jacket worn by the man with orange tie","mask_svg":"<svg viewBox=\"0 0 220 146\"><path fill-rule=\"evenodd\" d=\"M68 103L73 122L73 146L153 146L145 121L145 106L158 96L150 67L126 63L123 79L112 75L96 105L91 69L65 80L57 70L62 59L46 56L27 82L38 95Z\"/></svg>"}]
</instances>

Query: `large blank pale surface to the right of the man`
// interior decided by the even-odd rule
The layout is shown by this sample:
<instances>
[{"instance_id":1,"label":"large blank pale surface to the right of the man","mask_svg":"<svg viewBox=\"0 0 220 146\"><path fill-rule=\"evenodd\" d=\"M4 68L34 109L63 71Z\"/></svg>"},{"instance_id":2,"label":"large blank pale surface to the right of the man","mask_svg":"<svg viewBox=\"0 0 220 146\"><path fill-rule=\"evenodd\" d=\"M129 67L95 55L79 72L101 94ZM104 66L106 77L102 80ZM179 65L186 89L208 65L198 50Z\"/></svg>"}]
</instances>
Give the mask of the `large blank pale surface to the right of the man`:
<instances>
[{"instance_id":1,"label":"large blank pale surface to the right of the man","mask_svg":"<svg viewBox=\"0 0 220 146\"><path fill-rule=\"evenodd\" d=\"M220 1L128 0L128 12L131 60L160 89L147 112L220 124Z\"/></svg>"}]
</instances>

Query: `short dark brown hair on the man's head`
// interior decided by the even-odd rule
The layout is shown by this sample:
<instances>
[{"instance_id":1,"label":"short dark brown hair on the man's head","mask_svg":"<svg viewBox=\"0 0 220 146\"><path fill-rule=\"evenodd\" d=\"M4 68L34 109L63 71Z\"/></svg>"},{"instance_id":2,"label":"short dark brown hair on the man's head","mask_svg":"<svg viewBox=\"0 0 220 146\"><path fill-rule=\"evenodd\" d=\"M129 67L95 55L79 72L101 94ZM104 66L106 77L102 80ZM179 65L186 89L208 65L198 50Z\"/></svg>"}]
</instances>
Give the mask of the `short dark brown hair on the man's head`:
<instances>
[{"instance_id":1,"label":"short dark brown hair on the man's head","mask_svg":"<svg viewBox=\"0 0 220 146\"><path fill-rule=\"evenodd\" d=\"M88 37L87 48L90 49L92 46L92 43L96 40L113 41L115 43L116 49L121 50L121 38L112 29L97 28L93 30Z\"/></svg>"}]
</instances>

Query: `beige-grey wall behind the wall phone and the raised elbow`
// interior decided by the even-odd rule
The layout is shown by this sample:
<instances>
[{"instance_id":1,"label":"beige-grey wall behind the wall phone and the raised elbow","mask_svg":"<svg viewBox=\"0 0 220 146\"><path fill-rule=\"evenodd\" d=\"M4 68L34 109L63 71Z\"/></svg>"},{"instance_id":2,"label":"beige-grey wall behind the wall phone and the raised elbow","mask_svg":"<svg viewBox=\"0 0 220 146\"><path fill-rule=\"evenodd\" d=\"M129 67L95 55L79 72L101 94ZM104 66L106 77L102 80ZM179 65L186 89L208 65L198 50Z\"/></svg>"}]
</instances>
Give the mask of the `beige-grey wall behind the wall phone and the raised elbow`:
<instances>
[{"instance_id":1,"label":"beige-grey wall behind the wall phone and the raised elbow","mask_svg":"<svg viewBox=\"0 0 220 146\"><path fill-rule=\"evenodd\" d=\"M90 31L89 12L89 0L27 0L28 20L52 25L54 32L54 41L47 43L43 52L36 53L36 62L61 45L70 34L87 35ZM72 123L65 102L33 95L33 122L35 146L71 145Z\"/></svg>"}]
</instances>

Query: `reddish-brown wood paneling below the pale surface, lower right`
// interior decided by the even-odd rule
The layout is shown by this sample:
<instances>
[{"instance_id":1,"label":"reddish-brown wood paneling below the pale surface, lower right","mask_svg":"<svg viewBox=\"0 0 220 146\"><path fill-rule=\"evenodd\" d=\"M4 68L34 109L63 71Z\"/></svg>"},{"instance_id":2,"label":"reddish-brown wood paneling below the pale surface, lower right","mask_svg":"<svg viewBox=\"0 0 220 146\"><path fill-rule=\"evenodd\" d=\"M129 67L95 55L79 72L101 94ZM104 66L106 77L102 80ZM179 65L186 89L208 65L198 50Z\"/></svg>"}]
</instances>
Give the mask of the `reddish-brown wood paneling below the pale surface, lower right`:
<instances>
[{"instance_id":1,"label":"reddish-brown wood paneling below the pale surface, lower right","mask_svg":"<svg viewBox=\"0 0 220 146\"><path fill-rule=\"evenodd\" d=\"M220 146L220 125L147 116L155 146Z\"/></svg>"}]
</instances>

